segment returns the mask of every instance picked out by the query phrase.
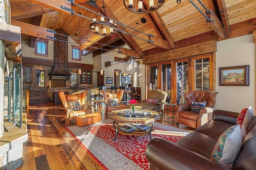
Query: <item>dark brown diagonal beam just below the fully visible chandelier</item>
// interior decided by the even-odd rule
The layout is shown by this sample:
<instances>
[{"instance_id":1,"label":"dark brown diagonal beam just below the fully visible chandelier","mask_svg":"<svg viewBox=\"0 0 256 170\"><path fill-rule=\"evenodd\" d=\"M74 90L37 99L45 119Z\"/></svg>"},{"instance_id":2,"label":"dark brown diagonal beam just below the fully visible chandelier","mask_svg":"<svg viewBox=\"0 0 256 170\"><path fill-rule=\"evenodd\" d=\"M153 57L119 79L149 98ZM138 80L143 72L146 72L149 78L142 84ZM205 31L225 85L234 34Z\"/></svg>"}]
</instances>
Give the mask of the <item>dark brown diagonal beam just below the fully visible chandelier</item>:
<instances>
[{"instance_id":1,"label":"dark brown diagonal beam just below the fully visible chandelier","mask_svg":"<svg viewBox=\"0 0 256 170\"><path fill-rule=\"evenodd\" d=\"M114 34L112 36L106 36L106 37L102 38L101 40L97 41L97 43L110 45L111 43L114 43L115 41L118 41L118 40L120 40L120 37L117 34ZM94 43L91 46L101 48L102 45L97 44L97 43ZM92 52L95 52L95 51L98 51L98 49L87 47L86 49L82 50L82 55L88 55L88 54L90 54Z\"/></svg>"}]
</instances>

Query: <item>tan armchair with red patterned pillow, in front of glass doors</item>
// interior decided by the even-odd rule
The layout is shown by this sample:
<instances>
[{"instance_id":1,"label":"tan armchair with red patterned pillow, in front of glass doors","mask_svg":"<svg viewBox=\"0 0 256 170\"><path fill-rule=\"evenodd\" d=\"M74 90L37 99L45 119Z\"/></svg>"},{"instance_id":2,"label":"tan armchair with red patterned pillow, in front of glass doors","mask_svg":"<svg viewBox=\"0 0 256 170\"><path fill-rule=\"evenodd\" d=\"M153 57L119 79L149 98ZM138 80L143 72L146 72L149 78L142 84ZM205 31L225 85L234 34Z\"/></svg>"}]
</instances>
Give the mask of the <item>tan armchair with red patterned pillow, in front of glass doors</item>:
<instances>
[{"instance_id":1,"label":"tan armchair with red patterned pillow, in front of glass doors","mask_svg":"<svg viewBox=\"0 0 256 170\"><path fill-rule=\"evenodd\" d=\"M167 97L167 93L163 90L149 90L147 99L158 99L158 103L164 103ZM141 109L148 109L153 111L160 111L164 109L163 104L146 103L146 100L142 100L140 104L134 104L134 106L141 106ZM129 108L128 105L126 108Z\"/></svg>"}]
</instances>

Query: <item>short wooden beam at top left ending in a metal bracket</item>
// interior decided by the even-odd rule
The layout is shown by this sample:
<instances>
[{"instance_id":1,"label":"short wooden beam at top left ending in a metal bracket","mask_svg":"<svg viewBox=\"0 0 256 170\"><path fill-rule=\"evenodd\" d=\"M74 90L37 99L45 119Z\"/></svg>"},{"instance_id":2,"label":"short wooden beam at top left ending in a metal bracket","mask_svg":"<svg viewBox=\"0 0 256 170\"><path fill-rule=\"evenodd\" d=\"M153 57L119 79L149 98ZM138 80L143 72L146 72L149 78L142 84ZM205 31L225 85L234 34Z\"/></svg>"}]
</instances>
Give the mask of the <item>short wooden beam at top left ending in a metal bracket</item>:
<instances>
[{"instance_id":1,"label":"short wooden beam at top left ending in a metal bracket","mask_svg":"<svg viewBox=\"0 0 256 170\"><path fill-rule=\"evenodd\" d=\"M67 0L54 0L54 1L31 0L31 1L36 4L41 4L42 6L46 6L48 8L52 8L56 11L63 12L64 14L71 14L70 11L66 10L66 9L71 10L71 2L68 2Z\"/></svg>"}]
</instances>

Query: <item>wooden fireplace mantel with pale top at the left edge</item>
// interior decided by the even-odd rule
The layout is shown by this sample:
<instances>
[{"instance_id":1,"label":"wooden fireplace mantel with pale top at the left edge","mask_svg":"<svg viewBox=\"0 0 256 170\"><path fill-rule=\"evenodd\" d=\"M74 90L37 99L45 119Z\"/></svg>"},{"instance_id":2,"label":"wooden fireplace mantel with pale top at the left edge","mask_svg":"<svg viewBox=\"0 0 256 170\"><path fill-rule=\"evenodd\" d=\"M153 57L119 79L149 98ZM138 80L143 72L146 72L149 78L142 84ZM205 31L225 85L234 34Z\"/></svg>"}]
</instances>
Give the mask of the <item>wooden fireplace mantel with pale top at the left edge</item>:
<instances>
[{"instance_id":1,"label":"wooden fireplace mantel with pale top at the left edge","mask_svg":"<svg viewBox=\"0 0 256 170\"><path fill-rule=\"evenodd\" d=\"M0 40L5 45L6 58L13 62L22 62L20 27L0 23Z\"/></svg>"}]
</instances>

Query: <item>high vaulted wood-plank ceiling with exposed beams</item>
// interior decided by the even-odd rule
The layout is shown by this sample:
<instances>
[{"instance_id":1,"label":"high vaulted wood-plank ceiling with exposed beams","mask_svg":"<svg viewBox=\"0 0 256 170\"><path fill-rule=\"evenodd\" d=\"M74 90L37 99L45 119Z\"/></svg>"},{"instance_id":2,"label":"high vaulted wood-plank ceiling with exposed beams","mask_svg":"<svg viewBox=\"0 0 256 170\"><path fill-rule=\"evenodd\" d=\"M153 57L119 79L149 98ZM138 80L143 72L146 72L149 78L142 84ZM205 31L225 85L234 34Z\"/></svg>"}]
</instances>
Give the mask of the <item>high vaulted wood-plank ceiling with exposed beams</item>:
<instances>
[{"instance_id":1,"label":"high vaulted wood-plank ceiling with exposed beams","mask_svg":"<svg viewBox=\"0 0 256 170\"><path fill-rule=\"evenodd\" d=\"M87 3L94 4L95 1L98 8ZM147 2L147 0L142 1ZM208 10L211 9L214 12L214 15L207 15L208 18L211 17L214 20L214 23L206 22L206 18L192 5L190 0L182 0L180 4L177 4L176 0L166 0L158 11L150 14L129 12L122 0L74 0L74 5L71 6L75 13L73 15L60 9L62 3L67 3L66 0L55 0L54 5L48 2L47 0L10 0L11 18L47 29L63 29L69 36L82 39L74 39L74 41L85 45L82 46L83 55L93 53L93 56L96 56L101 53L101 50L88 46L113 50L115 47L127 44L131 49L125 52L128 56L143 59L148 55L213 39L222 40L247 35L256 30L256 0L201 0ZM193 2L205 13L197 0ZM105 8L102 8L103 5ZM86 18L100 20L100 16L80 6L124 23L128 27L119 24L117 27L128 34L118 31L107 37L95 35L89 29L92 21ZM81 14L81 16L76 14ZM146 23L142 23L142 18L146 20ZM154 43L142 40L148 40L148 34L154 35L154 38L151 38ZM30 40L30 46L35 43L35 37L31 35L22 35L22 39ZM86 39L89 41L85 41ZM114 47L102 46L90 41L98 41L98 43ZM106 51L103 50L103 52Z\"/></svg>"}]
</instances>

